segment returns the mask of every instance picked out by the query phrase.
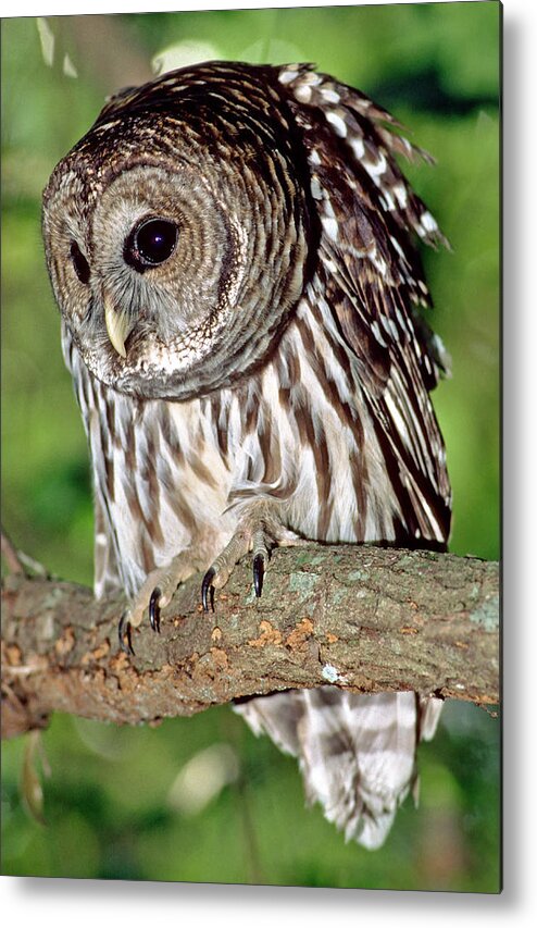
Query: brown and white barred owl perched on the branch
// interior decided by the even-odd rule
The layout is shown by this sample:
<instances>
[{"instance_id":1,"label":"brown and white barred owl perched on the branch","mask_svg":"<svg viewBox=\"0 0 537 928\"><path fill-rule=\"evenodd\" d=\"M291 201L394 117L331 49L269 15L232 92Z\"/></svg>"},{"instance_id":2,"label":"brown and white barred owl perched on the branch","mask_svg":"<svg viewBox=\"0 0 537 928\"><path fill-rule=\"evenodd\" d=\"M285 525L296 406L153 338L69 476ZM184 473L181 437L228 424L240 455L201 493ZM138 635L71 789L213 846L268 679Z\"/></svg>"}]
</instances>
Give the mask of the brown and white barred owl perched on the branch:
<instances>
[{"instance_id":1,"label":"brown and white barred owl perched on the branch","mask_svg":"<svg viewBox=\"0 0 537 928\"><path fill-rule=\"evenodd\" d=\"M312 66L209 62L127 88L54 170L43 237L95 483L96 594L122 647L203 571L316 540L446 545L416 240L445 242L395 156L425 152ZM438 706L334 686L238 707L327 818L379 846Z\"/></svg>"}]
</instances>

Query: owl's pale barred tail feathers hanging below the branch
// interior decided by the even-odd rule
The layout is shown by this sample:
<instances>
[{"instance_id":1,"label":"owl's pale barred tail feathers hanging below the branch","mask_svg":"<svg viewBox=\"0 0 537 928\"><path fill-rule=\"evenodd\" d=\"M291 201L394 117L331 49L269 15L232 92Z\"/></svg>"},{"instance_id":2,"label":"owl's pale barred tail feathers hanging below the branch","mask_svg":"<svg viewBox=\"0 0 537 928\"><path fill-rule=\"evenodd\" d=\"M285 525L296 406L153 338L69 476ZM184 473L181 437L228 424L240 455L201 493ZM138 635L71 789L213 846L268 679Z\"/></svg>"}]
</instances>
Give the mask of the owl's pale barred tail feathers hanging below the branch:
<instances>
[{"instance_id":1,"label":"owl's pale barred tail feathers hanging below the branch","mask_svg":"<svg viewBox=\"0 0 537 928\"><path fill-rule=\"evenodd\" d=\"M420 738L433 738L439 700L414 693L347 693L335 686L260 696L236 707L255 734L298 757L308 801L375 850L416 781Z\"/></svg>"}]
</instances>

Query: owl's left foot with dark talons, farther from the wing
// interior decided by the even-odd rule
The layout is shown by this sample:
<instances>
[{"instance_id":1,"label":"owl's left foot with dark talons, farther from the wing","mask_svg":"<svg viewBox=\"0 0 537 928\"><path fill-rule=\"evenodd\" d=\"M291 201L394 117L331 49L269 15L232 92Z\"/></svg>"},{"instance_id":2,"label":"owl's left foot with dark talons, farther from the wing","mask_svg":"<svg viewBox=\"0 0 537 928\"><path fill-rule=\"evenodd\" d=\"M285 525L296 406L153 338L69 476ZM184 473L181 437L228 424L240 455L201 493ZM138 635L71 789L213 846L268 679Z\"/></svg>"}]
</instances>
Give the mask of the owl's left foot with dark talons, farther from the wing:
<instances>
[{"instance_id":1,"label":"owl's left foot with dark talons, farther from the wing","mask_svg":"<svg viewBox=\"0 0 537 928\"><path fill-rule=\"evenodd\" d=\"M195 573L196 569L197 566L192 564L188 553L182 552L165 567L157 567L151 573L148 573L135 599L120 619L117 634L120 647L125 654L134 654L132 630L141 624L148 607L151 628L154 632L160 633L161 609L168 605L179 583Z\"/></svg>"}]
</instances>

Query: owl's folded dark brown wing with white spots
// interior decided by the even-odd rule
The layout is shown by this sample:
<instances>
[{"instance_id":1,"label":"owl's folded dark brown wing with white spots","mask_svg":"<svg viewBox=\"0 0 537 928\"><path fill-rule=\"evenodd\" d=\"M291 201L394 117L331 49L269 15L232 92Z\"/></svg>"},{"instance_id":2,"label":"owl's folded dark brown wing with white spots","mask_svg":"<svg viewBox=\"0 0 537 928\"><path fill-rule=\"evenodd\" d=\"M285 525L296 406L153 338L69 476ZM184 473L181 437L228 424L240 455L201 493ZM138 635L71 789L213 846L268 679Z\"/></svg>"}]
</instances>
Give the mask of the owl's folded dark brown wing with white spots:
<instances>
[{"instance_id":1,"label":"owl's folded dark brown wing with white spots","mask_svg":"<svg viewBox=\"0 0 537 928\"><path fill-rule=\"evenodd\" d=\"M285 83L302 129L317 220L310 287L348 351L399 502L396 537L442 546L451 492L428 391L449 358L421 310L430 305L416 238L447 244L395 154L426 157L359 91L300 69ZM280 78L282 79L282 78Z\"/></svg>"}]
</instances>

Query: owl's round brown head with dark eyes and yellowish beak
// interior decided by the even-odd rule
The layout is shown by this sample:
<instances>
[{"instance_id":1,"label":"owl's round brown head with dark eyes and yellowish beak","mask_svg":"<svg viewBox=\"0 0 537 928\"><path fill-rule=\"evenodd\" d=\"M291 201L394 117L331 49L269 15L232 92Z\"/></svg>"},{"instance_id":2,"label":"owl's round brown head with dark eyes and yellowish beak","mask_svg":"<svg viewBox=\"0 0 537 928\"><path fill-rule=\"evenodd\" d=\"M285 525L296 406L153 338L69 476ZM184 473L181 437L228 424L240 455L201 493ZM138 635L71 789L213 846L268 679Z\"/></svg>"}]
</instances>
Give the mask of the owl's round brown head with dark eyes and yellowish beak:
<instances>
[{"instance_id":1,"label":"owl's round brown head with dark eyes and yellowish beak","mask_svg":"<svg viewBox=\"0 0 537 928\"><path fill-rule=\"evenodd\" d=\"M301 154L277 90L239 76L204 65L121 95L45 191L64 322L121 392L186 399L236 382L302 292Z\"/></svg>"}]
</instances>

